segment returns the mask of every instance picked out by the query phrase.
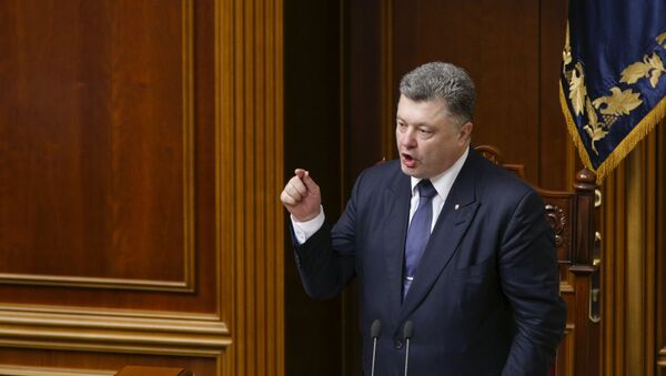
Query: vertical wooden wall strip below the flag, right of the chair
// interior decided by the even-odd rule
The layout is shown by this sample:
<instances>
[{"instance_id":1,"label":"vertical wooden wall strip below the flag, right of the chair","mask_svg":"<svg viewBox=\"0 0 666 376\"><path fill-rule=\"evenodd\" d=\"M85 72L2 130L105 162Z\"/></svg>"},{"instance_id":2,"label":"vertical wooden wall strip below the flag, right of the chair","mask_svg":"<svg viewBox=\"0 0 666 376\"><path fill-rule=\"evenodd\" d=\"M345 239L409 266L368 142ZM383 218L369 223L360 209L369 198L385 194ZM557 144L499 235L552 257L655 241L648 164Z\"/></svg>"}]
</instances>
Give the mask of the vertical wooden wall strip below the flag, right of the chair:
<instances>
[{"instance_id":1,"label":"vertical wooden wall strip below the flag, right of the chair","mask_svg":"<svg viewBox=\"0 0 666 376\"><path fill-rule=\"evenodd\" d=\"M655 375L657 156L650 134L604 183L604 375Z\"/></svg>"}]
</instances>

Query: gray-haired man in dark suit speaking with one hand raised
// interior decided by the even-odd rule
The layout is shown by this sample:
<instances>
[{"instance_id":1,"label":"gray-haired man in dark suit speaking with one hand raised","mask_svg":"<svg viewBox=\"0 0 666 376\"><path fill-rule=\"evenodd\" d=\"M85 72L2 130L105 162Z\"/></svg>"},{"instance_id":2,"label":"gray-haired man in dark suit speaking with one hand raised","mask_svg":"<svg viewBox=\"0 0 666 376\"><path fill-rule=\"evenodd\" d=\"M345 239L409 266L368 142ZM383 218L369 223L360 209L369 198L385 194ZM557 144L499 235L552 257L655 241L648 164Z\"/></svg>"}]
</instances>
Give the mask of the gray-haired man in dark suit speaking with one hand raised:
<instances>
[{"instance_id":1,"label":"gray-haired man in dark suit speaking with one hand raised","mask_svg":"<svg viewBox=\"0 0 666 376\"><path fill-rule=\"evenodd\" d=\"M566 321L554 236L541 197L470 148L475 89L428 63L401 81L398 161L364 171L330 227L320 189L296 170L281 194L303 286L360 286L363 369L381 323L375 374L547 375Z\"/></svg>"}]
</instances>

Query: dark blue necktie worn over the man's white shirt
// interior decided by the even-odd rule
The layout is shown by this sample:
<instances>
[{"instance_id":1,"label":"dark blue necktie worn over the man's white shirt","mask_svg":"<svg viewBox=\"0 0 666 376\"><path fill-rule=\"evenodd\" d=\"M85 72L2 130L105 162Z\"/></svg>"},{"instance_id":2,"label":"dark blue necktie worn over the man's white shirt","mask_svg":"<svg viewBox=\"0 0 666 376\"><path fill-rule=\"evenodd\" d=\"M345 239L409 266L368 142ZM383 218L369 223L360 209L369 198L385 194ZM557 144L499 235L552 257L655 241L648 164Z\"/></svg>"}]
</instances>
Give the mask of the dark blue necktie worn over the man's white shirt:
<instances>
[{"instance_id":1,"label":"dark blue necktie worn over the man's white shirt","mask_svg":"<svg viewBox=\"0 0 666 376\"><path fill-rule=\"evenodd\" d=\"M403 270L403 298L407 295L416 267L430 237L433 223L433 197L437 191L430 180L422 180L418 189L418 207L412 217L405 242L405 264Z\"/></svg>"}]
</instances>

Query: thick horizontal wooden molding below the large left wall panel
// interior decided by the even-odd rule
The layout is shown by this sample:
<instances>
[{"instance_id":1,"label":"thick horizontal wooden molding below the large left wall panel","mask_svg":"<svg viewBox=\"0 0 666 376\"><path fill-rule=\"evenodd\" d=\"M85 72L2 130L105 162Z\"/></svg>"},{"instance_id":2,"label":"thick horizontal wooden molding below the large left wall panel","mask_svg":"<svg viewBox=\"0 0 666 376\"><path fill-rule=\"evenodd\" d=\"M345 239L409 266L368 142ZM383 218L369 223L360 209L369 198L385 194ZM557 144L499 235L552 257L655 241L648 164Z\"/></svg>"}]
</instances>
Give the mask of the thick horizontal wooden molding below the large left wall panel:
<instances>
[{"instance_id":1,"label":"thick horizontal wooden molding below the large left wall panel","mask_svg":"<svg viewBox=\"0 0 666 376\"><path fill-rule=\"evenodd\" d=\"M0 306L0 346L131 354L219 356L232 343L214 316Z\"/></svg>"}]
</instances>

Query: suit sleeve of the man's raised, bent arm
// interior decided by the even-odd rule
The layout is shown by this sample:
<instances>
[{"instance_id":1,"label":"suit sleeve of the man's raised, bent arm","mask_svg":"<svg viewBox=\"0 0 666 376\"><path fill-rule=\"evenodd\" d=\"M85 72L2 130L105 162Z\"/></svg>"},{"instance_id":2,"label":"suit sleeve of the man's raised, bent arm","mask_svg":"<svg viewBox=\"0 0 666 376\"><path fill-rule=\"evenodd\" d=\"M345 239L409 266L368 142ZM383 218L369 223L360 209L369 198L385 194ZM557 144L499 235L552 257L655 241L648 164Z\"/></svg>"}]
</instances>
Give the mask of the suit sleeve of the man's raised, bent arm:
<instances>
[{"instance_id":1,"label":"suit sleeve of the man's raised, bent arm","mask_svg":"<svg viewBox=\"0 0 666 376\"><path fill-rule=\"evenodd\" d=\"M296 267L310 297L334 297L355 275L356 203L362 176L356 180L345 211L333 228L324 223L301 245L292 228Z\"/></svg>"}]
</instances>

